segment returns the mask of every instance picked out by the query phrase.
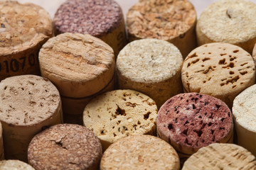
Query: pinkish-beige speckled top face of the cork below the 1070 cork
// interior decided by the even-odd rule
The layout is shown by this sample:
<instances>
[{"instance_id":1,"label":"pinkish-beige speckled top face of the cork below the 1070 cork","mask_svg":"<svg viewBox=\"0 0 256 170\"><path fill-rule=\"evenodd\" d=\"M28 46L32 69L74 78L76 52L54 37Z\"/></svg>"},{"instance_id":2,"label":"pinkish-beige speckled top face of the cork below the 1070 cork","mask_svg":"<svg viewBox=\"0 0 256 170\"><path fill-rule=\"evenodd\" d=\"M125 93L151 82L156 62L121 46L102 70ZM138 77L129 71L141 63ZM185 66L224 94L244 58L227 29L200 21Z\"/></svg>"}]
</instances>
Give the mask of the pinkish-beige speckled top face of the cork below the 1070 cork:
<instances>
[{"instance_id":1,"label":"pinkish-beige speckled top face of the cork below the 1070 cork","mask_svg":"<svg viewBox=\"0 0 256 170\"><path fill-rule=\"evenodd\" d=\"M60 107L60 94L43 77L23 75L0 82L0 120L29 126L49 119Z\"/></svg>"}]
</instances>

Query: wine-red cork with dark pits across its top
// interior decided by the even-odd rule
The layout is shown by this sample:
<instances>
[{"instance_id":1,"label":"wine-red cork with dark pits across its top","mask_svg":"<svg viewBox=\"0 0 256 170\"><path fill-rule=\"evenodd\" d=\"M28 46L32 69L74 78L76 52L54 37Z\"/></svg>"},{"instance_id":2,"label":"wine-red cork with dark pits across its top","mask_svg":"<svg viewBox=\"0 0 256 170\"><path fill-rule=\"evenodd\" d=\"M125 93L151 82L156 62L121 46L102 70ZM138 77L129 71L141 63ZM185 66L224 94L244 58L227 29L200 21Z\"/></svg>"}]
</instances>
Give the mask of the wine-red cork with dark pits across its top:
<instances>
[{"instance_id":1,"label":"wine-red cork with dark pits across its top","mask_svg":"<svg viewBox=\"0 0 256 170\"><path fill-rule=\"evenodd\" d=\"M161 106L157 119L159 137L178 152L193 154L214 142L228 142L233 135L232 113L218 98L206 94L178 94Z\"/></svg>"}]
</instances>

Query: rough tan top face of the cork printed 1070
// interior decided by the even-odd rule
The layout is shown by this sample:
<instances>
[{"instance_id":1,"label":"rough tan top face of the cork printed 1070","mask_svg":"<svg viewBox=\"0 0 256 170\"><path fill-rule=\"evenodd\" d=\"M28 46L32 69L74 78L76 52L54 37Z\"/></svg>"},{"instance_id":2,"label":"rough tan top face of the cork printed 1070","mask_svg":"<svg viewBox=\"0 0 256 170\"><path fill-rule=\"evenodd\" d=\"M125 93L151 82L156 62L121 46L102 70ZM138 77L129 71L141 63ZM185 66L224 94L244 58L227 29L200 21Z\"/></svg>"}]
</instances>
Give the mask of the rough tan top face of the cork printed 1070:
<instances>
[{"instance_id":1,"label":"rough tan top face of the cork printed 1070","mask_svg":"<svg viewBox=\"0 0 256 170\"><path fill-rule=\"evenodd\" d=\"M16 54L52 35L50 15L40 6L0 1L0 55Z\"/></svg>"}]
</instances>

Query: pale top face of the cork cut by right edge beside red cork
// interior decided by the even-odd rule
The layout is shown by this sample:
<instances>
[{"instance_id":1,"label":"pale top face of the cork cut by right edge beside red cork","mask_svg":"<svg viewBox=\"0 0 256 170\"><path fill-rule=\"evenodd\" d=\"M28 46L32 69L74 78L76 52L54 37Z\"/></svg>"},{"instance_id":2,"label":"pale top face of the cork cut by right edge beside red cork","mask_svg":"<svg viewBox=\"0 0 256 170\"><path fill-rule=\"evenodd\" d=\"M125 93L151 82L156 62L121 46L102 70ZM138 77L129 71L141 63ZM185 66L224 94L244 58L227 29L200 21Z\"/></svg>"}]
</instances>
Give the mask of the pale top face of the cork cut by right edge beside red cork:
<instances>
[{"instance_id":1,"label":"pale top face of the cork cut by right edge beside red cork","mask_svg":"<svg viewBox=\"0 0 256 170\"><path fill-rule=\"evenodd\" d=\"M250 86L238 96L233 103L235 121L243 128L256 132L256 85Z\"/></svg>"}]
</instances>

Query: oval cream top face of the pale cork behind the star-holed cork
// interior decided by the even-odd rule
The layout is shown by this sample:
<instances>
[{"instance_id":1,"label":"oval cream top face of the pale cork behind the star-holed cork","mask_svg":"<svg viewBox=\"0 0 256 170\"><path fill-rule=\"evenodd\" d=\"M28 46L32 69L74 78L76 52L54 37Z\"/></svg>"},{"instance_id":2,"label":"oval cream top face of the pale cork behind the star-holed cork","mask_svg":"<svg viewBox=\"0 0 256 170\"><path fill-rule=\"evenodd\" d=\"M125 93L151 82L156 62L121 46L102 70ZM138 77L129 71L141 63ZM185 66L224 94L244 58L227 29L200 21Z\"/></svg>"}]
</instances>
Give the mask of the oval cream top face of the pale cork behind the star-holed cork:
<instances>
[{"instance_id":1,"label":"oval cream top face of the pale cork behind the star-holed cork","mask_svg":"<svg viewBox=\"0 0 256 170\"><path fill-rule=\"evenodd\" d=\"M165 81L181 72L183 57L177 47L165 40L134 40L117 57L117 69L132 81Z\"/></svg>"}]
</instances>

